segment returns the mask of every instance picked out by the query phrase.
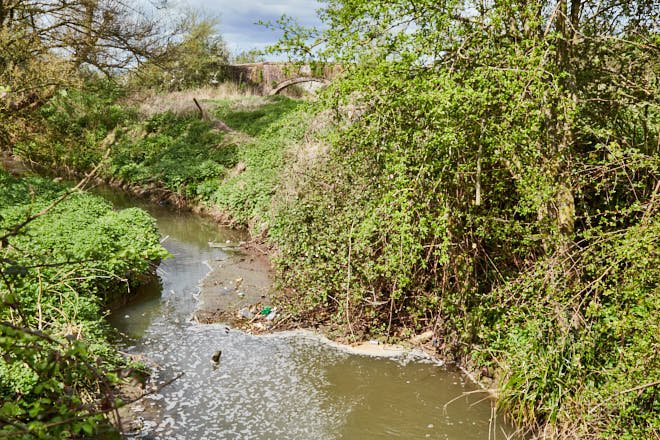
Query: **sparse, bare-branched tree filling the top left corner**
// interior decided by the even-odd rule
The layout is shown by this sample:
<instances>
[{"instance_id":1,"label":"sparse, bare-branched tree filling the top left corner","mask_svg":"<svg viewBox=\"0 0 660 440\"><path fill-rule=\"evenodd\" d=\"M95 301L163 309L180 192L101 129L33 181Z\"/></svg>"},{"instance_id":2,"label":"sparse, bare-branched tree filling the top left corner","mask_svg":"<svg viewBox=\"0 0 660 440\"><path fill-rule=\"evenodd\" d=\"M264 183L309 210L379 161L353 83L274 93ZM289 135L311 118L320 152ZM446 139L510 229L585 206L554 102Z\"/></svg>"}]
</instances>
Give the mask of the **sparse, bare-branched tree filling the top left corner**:
<instances>
[{"instance_id":1,"label":"sparse, bare-branched tree filling the top left corner","mask_svg":"<svg viewBox=\"0 0 660 440\"><path fill-rule=\"evenodd\" d=\"M0 141L82 70L112 75L157 58L171 35L124 0L0 1Z\"/></svg>"}]
</instances>

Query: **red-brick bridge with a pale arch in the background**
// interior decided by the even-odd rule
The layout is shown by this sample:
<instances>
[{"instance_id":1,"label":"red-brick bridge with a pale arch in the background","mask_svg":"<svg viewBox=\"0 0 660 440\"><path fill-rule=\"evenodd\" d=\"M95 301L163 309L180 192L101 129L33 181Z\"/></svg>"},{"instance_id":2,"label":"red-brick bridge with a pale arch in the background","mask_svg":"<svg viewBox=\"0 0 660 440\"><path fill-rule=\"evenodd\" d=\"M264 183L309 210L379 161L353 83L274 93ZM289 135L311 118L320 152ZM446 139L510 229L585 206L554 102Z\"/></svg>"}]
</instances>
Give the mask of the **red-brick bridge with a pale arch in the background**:
<instances>
[{"instance_id":1,"label":"red-brick bridge with a pale arch in the background","mask_svg":"<svg viewBox=\"0 0 660 440\"><path fill-rule=\"evenodd\" d=\"M270 95L300 82L328 83L341 71L341 66L337 64L297 65L263 62L226 66L225 77L262 95Z\"/></svg>"}]
</instances>

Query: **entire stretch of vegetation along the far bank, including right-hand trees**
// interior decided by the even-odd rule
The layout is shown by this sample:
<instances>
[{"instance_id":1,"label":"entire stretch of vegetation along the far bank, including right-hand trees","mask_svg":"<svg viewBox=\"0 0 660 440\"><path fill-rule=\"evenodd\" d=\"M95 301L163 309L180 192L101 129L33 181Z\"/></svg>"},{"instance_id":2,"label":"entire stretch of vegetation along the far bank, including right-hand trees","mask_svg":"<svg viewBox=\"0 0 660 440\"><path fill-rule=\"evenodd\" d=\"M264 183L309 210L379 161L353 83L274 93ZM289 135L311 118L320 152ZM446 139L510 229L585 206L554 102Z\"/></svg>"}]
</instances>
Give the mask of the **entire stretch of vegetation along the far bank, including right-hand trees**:
<instances>
[{"instance_id":1,"label":"entire stretch of vegetation along the far bank, including right-hand trees","mask_svg":"<svg viewBox=\"0 0 660 440\"><path fill-rule=\"evenodd\" d=\"M44 86L34 107L12 86L4 145L77 172L110 147L100 176L262 237L288 314L349 339L430 330L533 435L656 438L659 15L655 0L331 0L322 29L275 25L290 38L274 51L342 65L313 103L194 76L222 45L188 26L192 71L163 49Z\"/></svg>"}]
</instances>

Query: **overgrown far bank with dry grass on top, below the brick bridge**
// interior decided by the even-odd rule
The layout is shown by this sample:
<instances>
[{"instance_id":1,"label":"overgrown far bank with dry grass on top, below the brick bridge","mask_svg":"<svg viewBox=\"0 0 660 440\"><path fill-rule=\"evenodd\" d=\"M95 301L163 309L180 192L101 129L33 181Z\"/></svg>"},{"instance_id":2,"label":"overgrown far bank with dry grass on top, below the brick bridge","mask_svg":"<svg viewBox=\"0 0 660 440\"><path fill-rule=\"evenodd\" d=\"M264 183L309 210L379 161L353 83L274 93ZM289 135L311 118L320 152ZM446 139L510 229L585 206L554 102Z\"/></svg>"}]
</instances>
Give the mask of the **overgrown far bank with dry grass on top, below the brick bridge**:
<instances>
[{"instance_id":1,"label":"overgrown far bank with dry grass on top, below the brick bridge","mask_svg":"<svg viewBox=\"0 0 660 440\"><path fill-rule=\"evenodd\" d=\"M109 151L100 177L215 206L230 213L234 224L261 230L294 147L309 130L313 105L223 87L229 91L207 88L146 98L125 97L108 83L62 92L40 110L43 134L18 143L13 152L79 173L102 162ZM202 120L195 97L233 131Z\"/></svg>"}]
</instances>

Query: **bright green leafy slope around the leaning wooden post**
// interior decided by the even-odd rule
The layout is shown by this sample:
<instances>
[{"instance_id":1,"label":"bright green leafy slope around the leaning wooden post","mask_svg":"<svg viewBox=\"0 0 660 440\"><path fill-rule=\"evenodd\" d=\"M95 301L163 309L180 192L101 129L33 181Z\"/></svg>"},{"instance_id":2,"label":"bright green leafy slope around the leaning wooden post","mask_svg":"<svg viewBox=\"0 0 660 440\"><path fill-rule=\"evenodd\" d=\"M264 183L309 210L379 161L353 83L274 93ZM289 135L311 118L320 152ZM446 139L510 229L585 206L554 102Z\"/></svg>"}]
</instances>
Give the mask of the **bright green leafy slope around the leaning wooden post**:
<instances>
[{"instance_id":1,"label":"bright green leafy slope around the leaning wooden post","mask_svg":"<svg viewBox=\"0 0 660 440\"><path fill-rule=\"evenodd\" d=\"M261 231L288 148L304 134L309 105L282 96L234 96L204 105L235 132L219 132L198 115L156 114L127 130L141 136L122 137L110 160L110 175L163 185Z\"/></svg>"}]
</instances>

